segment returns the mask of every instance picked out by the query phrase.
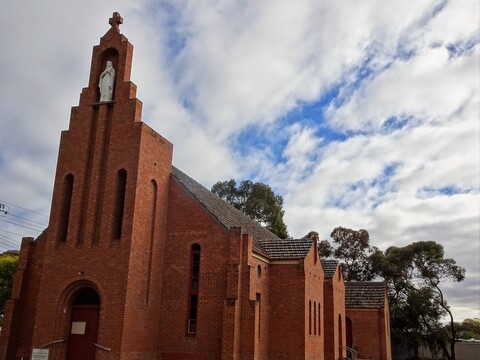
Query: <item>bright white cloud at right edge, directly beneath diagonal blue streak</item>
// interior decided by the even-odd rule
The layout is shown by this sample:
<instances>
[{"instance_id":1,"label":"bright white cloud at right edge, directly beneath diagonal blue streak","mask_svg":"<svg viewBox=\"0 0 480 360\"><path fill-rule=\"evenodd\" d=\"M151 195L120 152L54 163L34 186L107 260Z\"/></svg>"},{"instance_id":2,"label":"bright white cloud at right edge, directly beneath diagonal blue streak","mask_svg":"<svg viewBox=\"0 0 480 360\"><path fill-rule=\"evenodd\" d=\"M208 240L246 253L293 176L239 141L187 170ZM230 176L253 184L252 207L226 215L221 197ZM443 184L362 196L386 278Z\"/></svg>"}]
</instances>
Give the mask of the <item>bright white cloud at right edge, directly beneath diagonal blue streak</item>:
<instances>
[{"instance_id":1,"label":"bright white cloud at right edge, directly beneath diagonal blue streak","mask_svg":"<svg viewBox=\"0 0 480 360\"><path fill-rule=\"evenodd\" d=\"M478 98L480 48L469 56L449 58L446 48L423 49L407 61L364 83L348 101L330 107L331 123L345 130L375 131L390 117L442 121Z\"/></svg>"}]
</instances>

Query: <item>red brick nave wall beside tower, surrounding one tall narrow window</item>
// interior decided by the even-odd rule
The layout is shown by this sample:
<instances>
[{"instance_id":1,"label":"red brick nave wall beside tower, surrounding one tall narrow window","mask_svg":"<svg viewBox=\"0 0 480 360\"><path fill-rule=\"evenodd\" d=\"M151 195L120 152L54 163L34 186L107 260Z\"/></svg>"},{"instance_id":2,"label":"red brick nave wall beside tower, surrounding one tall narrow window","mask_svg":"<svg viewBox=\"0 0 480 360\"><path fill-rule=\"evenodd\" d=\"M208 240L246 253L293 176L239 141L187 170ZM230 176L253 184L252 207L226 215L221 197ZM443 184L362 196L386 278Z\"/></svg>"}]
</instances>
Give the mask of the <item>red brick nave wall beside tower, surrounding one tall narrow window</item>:
<instances>
[{"instance_id":1,"label":"red brick nave wall beside tower, surrounding one tall narrow window","mask_svg":"<svg viewBox=\"0 0 480 360\"><path fill-rule=\"evenodd\" d=\"M240 242L223 229L176 181L170 183L168 236L160 309L161 352L197 352L219 356L230 242ZM197 334L187 336L190 255L201 247ZM235 244L232 244L234 246ZM237 255L238 256L238 255ZM240 264L240 259L234 261Z\"/></svg>"}]
</instances>

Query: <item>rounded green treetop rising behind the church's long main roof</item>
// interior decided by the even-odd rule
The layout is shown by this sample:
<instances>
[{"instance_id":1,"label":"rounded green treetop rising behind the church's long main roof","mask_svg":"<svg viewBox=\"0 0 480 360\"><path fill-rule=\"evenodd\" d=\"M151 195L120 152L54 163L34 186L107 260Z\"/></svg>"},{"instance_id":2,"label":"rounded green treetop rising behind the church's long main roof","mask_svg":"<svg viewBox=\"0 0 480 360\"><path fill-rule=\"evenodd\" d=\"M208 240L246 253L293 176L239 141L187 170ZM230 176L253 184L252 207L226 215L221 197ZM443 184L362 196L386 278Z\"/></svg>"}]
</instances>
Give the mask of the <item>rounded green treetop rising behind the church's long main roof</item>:
<instances>
[{"instance_id":1,"label":"rounded green treetop rising behind the church's long main roof","mask_svg":"<svg viewBox=\"0 0 480 360\"><path fill-rule=\"evenodd\" d=\"M270 186L250 180L237 186L231 179L217 182L211 191L281 239L288 238L287 225L283 221L283 198L275 195Z\"/></svg>"}]
</instances>

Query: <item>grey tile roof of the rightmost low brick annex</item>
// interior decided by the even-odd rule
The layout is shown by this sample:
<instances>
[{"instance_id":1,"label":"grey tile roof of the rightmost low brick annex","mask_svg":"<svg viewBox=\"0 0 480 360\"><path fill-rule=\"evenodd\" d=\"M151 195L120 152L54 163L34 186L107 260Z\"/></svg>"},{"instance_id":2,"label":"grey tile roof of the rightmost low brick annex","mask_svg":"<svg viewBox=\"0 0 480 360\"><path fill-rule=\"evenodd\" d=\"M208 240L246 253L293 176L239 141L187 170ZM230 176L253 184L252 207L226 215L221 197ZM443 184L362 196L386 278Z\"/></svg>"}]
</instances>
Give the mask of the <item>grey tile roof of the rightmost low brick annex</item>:
<instances>
[{"instance_id":1,"label":"grey tile roof of the rightmost low brick annex","mask_svg":"<svg viewBox=\"0 0 480 360\"><path fill-rule=\"evenodd\" d=\"M381 308L385 306L385 282L350 281L345 283L347 308Z\"/></svg>"}]
</instances>

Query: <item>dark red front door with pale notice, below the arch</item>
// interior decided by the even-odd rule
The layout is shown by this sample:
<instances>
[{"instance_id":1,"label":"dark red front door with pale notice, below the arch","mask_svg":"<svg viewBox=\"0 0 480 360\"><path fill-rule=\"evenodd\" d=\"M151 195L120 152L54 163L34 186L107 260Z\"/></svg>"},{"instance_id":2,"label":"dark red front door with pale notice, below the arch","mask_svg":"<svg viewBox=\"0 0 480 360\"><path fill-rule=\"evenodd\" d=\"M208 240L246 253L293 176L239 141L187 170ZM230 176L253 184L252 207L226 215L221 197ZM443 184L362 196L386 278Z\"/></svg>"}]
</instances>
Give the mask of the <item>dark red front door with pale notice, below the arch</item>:
<instances>
[{"instance_id":1,"label":"dark red front door with pale notice, below the arch","mask_svg":"<svg viewBox=\"0 0 480 360\"><path fill-rule=\"evenodd\" d=\"M73 306L67 360L95 360L99 314L99 305Z\"/></svg>"}]
</instances>

